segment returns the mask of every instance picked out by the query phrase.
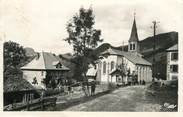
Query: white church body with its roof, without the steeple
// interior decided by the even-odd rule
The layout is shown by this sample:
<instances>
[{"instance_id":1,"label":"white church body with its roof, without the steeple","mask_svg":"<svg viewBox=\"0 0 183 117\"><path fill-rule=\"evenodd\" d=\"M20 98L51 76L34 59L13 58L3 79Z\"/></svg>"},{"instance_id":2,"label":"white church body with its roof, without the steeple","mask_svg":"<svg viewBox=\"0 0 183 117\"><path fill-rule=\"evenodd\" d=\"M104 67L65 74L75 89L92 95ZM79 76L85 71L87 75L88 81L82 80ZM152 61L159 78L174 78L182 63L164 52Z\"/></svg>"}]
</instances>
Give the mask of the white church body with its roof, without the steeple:
<instances>
[{"instance_id":1,"label":"white church body with its roof, without the steeple","mask_svg":"<svg viewBox=\"0 0 183 117\"><path fill-rule=\"evenodd\" d=\"M136 75L138 81L152 81L151 63L141 56L112 48L105 51L103 56L103 59L98 63L96 80L101 82L128 83L131 80L130 76ZM123 78L120 72L123 73Z\"/></svg>"}]
</instances>

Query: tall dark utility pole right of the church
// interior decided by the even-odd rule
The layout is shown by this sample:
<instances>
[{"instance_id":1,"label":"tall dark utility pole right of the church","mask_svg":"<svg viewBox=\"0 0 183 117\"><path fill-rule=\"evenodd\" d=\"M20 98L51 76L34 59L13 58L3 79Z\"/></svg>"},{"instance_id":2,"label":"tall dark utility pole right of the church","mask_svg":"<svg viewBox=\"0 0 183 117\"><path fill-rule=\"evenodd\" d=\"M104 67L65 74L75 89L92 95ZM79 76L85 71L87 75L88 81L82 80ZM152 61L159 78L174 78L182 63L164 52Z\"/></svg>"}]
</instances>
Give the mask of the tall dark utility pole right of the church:
<instances>
[{"instance_id":1,"label":"tall dark utility pole right of the church","mask_svg":"<svg viewBox=\"0 0 183 117\"><path fill-rule=\"evenodd\" d=\"M155 80L155 69L156 69L156 65L155 65L155 63L156 63L156 59L155 59L155 54L156 54L156 28L157 28L157 23L159 23L159 22L157 22L157 21L153 21L152 22L153 23L153 69L152 69L152 71L153 71L153 81Z\"/></svg>"}]
</instances>

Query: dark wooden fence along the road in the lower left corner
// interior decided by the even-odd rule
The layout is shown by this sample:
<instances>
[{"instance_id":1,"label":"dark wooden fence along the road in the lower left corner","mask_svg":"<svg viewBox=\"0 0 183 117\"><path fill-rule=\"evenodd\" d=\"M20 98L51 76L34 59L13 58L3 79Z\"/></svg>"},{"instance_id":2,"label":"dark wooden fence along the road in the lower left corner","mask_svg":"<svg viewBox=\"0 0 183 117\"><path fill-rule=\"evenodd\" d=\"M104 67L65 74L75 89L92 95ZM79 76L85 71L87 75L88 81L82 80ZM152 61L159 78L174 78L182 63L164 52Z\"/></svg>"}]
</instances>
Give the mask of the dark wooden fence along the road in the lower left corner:
<instances>
[{"instance_id":1,"label":"dark wooden fence along the road in the lower left corner","mask_svg":"<svg viewBox=\"0 0 183 117\"><path fill-rule=\"evenodd\" d=\"M28 101L26 103L15 103L4 107L4 111L34 111L45 110L47 107L56 106L56 97L45 97Z\"/></svg>"}]
</instances>

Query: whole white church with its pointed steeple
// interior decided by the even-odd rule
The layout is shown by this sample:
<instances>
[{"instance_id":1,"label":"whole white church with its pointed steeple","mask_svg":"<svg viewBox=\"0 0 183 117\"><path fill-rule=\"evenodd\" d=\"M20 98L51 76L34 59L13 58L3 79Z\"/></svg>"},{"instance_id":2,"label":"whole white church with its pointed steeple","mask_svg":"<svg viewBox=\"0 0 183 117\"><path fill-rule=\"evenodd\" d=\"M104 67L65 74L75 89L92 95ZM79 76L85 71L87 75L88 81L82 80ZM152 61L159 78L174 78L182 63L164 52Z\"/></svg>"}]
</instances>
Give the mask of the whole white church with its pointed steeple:
<instances>
[{"instance_id":1,"label":"whole white church with its pointed steeple","mask_svg":"<svg viewBox=\"0 0 183 117\"><path fill-rule=\"evenodd\" d=\"M134 17L131 35L128 40L128 51L108 48L101 53L97 61L95 80L100 83L128 84L132 82L132 76L136 76L138 82L152 81L152 64L145 60L139 52L139 38ZM90 69L88 70L90 72Z\"/></svg>"}]
</instances>

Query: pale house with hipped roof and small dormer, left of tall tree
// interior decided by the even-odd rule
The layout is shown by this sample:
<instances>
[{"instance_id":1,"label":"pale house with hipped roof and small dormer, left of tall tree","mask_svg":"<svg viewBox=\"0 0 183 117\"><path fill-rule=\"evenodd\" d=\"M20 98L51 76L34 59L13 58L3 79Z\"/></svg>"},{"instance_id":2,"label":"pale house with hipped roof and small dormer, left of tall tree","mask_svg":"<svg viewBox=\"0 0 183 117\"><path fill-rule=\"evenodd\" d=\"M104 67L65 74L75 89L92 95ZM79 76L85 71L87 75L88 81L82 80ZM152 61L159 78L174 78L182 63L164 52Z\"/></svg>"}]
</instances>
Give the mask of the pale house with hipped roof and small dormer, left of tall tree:
<instances>
[{"instance_id":1,"label":"pale house with hipped roof and small dormer, left of tall tree","mask_svg":"<svg viewBox=\"0 0 183 117\"><path fill-rule=\"evenodd\" d=\"M21 67L23 78L37 89L55 88L67 80L65 67L58 56L48 52L39 53L30 63Z\"/></svg>"}]
</instances>

